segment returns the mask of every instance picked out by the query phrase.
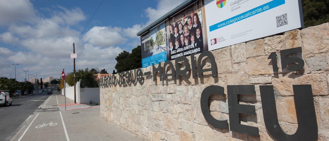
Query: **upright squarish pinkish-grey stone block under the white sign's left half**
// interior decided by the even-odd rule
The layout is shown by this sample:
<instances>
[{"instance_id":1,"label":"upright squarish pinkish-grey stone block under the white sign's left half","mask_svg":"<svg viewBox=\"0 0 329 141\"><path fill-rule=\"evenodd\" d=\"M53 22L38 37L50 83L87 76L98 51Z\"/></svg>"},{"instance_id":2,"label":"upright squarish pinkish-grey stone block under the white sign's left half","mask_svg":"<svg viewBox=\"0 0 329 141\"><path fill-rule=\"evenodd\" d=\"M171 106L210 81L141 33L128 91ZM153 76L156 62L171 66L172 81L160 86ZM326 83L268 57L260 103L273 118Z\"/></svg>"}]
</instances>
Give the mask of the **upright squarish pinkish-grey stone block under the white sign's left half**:
<instances>
[{"instance_id":1,"label":"upright squarish pinkish-grey stone block under the white sign's left half","mask_svg":"<svg viewBox=\"0 0 329 141\"><path fill-rule=\"evenodd\" d=\"M247 61L246 59L246 43L232 45L233 63L240 63Z\"/></svg>"}]
</instances>

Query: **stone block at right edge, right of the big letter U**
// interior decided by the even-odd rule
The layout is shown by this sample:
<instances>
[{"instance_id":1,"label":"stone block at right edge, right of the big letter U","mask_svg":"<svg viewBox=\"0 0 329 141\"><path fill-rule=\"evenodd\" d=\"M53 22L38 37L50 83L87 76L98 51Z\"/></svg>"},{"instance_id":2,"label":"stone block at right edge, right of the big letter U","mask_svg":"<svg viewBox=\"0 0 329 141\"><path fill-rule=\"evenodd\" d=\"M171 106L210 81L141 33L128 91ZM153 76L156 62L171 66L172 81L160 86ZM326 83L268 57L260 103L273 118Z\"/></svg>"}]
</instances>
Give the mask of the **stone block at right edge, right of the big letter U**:
<instances>
[{"instance_id":1,"label":"stone block at right edge, right of the big letter U","mask_svg":"<svg viewBox=\"0 0 329 141\"><path fill-rule=\"evenodd\" d=\"M319 110L321 116L320 127L326 128L329 131L329 98L319 99Z\"/></svg>"}]
</instances>

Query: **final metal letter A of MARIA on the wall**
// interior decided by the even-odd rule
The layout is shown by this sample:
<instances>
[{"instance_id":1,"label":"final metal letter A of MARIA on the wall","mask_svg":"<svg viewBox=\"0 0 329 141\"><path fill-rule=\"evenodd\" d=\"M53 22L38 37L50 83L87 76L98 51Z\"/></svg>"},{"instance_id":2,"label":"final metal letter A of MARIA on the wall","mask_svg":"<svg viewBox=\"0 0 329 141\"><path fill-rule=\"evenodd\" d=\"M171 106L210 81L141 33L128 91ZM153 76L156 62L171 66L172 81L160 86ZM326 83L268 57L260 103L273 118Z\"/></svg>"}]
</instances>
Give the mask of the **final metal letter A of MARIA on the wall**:
<instances>
[{"instance_id":1,"label":"final metal letter A of MARIA on the wall","mask_svg":"<svg viewBox=\"0 0 329 141\"><path fill-rule=\"evenodd\" d=\"M203 57L209 57L210 58L210 64L211 64L211 68L210 69L205 69L203 70L202 69L202 66L201 66L201 60ZM207 71L211 71L212 72L212 75L213 77L216 77L217 76L217 68L216 68L216 61L215 61L215 57L214 55L210 52L210 51L203 51L200 55L199 55L199 58L198 58L198 77L201 78L202 75L203 75L203 72L207 72Z\"/></svg>"}]
</instances>

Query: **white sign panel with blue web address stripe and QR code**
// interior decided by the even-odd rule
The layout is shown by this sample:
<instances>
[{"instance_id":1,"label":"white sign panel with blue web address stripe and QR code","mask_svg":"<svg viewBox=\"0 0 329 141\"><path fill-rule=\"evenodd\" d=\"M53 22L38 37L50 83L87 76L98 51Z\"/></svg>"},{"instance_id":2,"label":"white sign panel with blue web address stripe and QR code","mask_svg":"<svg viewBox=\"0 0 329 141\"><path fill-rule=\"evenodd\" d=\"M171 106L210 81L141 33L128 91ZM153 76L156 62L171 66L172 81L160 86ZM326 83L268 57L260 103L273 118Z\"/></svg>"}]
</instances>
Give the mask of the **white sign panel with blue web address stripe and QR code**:
<instances>
[{"instance_id":1,"label":"white sign panel with blue web address stripe and QR code","mask_svg":"<svg viewBox=\"0 0 329 141\"><path fill-rule=\"evenodd\" d=\"M208 49L304 27L300 0L205 0Z\"/></svg>"}]
</instances>

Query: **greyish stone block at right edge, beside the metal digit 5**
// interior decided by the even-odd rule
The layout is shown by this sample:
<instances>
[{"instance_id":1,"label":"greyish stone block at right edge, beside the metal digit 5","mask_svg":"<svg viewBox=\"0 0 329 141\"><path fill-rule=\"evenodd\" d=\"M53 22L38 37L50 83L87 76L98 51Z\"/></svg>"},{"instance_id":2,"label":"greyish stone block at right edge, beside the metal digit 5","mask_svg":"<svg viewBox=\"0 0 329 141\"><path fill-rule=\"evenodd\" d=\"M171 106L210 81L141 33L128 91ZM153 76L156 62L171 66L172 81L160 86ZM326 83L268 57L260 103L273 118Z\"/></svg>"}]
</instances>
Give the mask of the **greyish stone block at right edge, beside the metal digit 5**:
<instances>
[{"instance_id":1,"label":"greyish stone block at right edge, beside the metal digit 5","mask_svg":"<svg viewBox=\"0 0 329 141\"><path fill-rule=\"evenodd\" d=\"M325 70L328 69L328 62L324 56L316 56L306 59L306 64L311 70Z\"/></svg>"}]
</instances>

